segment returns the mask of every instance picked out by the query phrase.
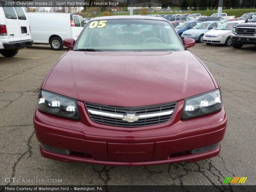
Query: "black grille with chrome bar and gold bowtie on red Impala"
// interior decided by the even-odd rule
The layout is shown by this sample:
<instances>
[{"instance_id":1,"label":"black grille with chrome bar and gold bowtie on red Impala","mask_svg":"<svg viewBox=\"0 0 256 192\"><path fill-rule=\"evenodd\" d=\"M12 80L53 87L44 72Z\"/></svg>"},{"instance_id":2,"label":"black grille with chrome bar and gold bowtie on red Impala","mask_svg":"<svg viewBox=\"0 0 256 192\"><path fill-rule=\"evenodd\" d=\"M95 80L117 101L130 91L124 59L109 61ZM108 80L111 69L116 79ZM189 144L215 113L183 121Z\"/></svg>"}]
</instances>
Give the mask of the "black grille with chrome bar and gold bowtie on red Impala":
<instances>
[{"instance_id":1,"label":"black grille with chrome bar and gold bowtie on red Impala","mask_svg":"<svg viewBox=\"0 0 256 192\"><path fill-rule=\"evenodd\" d=\"M176 102L165 103L159 105L151 105L151 106L143 106L143 107L117 107L117 106L109 106L109 105L100 105L94 103L85 102L85 106L87 112L92 119L92 121L100 124L107 124L112 126L121 126L121 127L142 127L149 125L162 124L169 121L172 117L172 113L176 106ZM94 111L94 113L92 113ZM171 112L172 111L172 112ZM104 113L96 114L96 113ZM171 114L165 114L169 113ZM111 116L106 116L105 114L112 114ZM115 118L113 116L127 116L135 115L142 116L149 115L152 117L139 118L134 122L128 122L127 120L123 120L122 117ZM159 116L157 116L159 115Z\"/></svg>"}]
</instances>

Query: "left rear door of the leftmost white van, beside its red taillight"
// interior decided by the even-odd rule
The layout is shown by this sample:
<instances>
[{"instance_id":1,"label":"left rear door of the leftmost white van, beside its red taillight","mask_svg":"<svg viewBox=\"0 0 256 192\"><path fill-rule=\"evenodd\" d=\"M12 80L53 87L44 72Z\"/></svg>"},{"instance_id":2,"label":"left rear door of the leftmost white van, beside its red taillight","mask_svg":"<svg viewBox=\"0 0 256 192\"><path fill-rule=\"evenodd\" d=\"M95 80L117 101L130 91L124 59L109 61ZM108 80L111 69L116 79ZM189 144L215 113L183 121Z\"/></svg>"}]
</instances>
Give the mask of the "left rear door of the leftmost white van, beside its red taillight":
<instances>
[{"instance_id":1,"label":"left rear door of the leftmost white van, beside its red taillight","mask_svg":"<svg viewBox=\"0 0 256 192\"><path fill-rule=\"evenodd\" d=\"M5 1L0 1L5 15L6 29L8 37L11 41L20 41L20 25L17 15L12 6L6 7Z\"/></svg>"}]
</instances>

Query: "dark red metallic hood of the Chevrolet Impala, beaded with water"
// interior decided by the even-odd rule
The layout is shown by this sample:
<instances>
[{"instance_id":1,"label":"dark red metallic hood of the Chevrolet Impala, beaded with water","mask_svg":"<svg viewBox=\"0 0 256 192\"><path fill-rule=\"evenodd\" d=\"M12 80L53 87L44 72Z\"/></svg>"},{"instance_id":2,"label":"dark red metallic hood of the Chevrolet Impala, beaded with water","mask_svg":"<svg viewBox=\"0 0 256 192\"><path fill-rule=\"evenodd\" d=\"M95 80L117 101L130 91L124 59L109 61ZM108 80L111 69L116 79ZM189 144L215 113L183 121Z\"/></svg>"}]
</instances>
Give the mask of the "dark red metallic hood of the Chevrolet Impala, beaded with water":
<instances>
[{"instance_id":1,"label":"dark red metallic hood of the Chevrolet Impala, beaded with water","mask_svg":"<svg viewBox=\"0 0 256 192\"><path fill-rule=\"evenodd\" d=\"M42 88L81 101L125 107L178 101L216 89L189 51L69 51Z\"/></svg>"}]
</instances>

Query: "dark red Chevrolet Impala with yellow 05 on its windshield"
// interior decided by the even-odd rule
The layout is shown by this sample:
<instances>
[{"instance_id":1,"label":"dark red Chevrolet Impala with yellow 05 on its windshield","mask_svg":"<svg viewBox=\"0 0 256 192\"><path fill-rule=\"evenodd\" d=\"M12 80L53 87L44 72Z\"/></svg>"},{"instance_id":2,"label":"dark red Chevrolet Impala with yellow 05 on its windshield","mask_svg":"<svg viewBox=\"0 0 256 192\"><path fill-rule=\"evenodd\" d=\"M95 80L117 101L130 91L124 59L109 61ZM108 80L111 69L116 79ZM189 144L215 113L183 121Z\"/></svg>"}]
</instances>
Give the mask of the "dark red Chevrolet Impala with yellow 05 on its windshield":
<instances>
[{"instance_id":1,"label":"dark red Chevrolet Impala with yellow 05 on its windshield","mask_svg":"<svg viewBox=\"0 0 256 192\"><path fill-rule=\"evenodd\" d=\"M64 44L70 50L38 94L42 156L139 166L220 153L227 125L220 88L187 49L195 40L182 42L167 20L98 17Z\"/></svg>"}]
</instances>

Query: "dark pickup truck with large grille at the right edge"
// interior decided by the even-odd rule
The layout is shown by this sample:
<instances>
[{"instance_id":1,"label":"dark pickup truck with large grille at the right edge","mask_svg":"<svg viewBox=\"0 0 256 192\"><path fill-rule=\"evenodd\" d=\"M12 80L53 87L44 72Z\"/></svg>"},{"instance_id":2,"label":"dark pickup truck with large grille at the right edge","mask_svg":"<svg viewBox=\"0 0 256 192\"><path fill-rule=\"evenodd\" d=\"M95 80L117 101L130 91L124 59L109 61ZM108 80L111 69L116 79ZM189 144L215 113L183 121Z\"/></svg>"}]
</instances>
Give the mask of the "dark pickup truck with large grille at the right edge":
<instances>
[{"instance_id":1,"label":"dark pickup truck with large grille at the right edge","mask_svg":"<svg viewBox=\"0 0 256 192\"><path fill-rule=\"evenodd\" d=\"M249 22L239 23L231 34L232 46L240 49L244 44L256 45L256 16Z\"/></svg>"}]
</instances>

